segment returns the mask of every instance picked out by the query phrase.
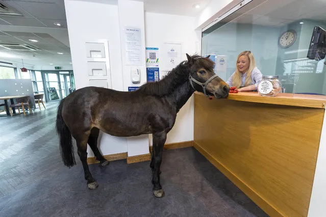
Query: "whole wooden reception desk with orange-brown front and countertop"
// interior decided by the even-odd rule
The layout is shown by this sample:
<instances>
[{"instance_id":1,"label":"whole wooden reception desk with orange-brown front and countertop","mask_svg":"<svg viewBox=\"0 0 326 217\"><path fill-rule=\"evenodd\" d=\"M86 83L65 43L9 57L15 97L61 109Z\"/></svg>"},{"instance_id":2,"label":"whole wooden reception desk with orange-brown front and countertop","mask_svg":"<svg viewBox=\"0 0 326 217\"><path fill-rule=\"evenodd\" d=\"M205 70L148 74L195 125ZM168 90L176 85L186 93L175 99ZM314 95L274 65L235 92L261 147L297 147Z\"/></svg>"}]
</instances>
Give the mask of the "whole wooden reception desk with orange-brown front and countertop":
<instances>
[{"instance_id":1,"label":"whole wooden reception desk with orange-brown front and countertop","mask_svg":"<svg viewBox=\"0 0 326 217\"><path fill-rule=\"evenodd\" d=\"M195 93L194 147L270 216L307 216L325 96Z\"/></svg>"}]
</instances>

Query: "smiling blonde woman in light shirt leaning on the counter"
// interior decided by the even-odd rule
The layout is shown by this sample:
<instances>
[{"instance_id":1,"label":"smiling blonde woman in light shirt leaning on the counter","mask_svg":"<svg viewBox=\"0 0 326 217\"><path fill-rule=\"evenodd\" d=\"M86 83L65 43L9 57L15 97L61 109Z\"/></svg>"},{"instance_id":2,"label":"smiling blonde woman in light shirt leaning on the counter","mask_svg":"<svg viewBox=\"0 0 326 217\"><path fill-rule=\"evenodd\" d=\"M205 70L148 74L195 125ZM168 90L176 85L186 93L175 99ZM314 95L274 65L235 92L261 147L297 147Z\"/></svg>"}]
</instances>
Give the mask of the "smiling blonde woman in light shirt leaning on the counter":
<instances>
[{"instance_id":1,"label":"smiling blonde woman in light shirt leaning on the counter","mask_svg":"<svg viewBox=\"0 0 326 217\"><path fill-rule=\"evenodd\" d=\"M229 77L227 84L236 87L239 92L257 90L263 74L256 67L256 61L251 51L243 51L237 59L236 71Z\"/></svg>"}]
</instances>

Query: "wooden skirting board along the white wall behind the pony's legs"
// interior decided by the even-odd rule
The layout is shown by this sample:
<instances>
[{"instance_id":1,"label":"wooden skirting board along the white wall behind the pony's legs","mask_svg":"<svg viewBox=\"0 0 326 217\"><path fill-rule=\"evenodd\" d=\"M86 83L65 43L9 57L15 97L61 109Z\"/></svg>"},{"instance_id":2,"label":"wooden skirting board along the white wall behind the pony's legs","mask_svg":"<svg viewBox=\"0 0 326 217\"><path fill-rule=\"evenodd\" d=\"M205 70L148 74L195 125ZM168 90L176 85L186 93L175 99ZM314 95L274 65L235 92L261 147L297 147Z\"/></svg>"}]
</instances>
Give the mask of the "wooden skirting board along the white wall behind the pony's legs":
<instances>
[{"instance_id":1,"label":"wooden skirting board along the white wall behind the pony's legs","mask_svg":"<svg viewBox=\"0 0 326 217\"><path fill-rule=\"evenodd\" d=\"M164 149L177 149L177 148L191 147L192 142L193 141L180 142L180 143L169 143L169 144L164 145ZM153 147L150 146L149 151L152 152L152 149L153 149ZM132 164L134 162L141 162L141 161L151 160L151 153L128 157L128 153L123 152L123 153L117 153L117 154L104 155L104 158L109 160L109 161L127 159L127 163ZM95 157L88 157L87 158L87 164L95 164L95 163L96 164L99 163L98 160L95 160Z\"/></svg>"}]
</instances>

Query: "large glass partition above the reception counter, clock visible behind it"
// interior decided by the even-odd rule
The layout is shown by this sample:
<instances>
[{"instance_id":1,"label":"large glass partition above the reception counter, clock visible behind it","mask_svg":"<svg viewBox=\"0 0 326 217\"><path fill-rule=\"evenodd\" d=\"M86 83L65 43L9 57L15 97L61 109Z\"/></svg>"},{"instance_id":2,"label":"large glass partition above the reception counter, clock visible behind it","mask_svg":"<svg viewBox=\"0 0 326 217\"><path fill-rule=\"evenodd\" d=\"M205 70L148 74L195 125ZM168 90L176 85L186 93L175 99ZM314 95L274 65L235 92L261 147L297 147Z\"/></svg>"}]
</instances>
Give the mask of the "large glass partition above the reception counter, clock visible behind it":
<instances>
[{"instance_id":1,"label":"large glass partition above the reception counter, clock visible behind it","mask_svg":"<svg viewBox=\"0 0 326 217\"><path fill-rule=\"evenodd\" d=\"M255 2L255 1L253 1ZM252 51L263 75L278 75L285 93L326 94L326 3L319 0L268 0L248 3L246 11L221 20L203 32L202 55L214 55L223 79L236 70L240 52ZM319 32L315 31L319 26ZM312 46L319 37L318 46ZM317 47L316 47L317 46ZM319 54L316 55L316 50ZM308 55L312 52L312 55Z\"/></svg>"}]
</instances>

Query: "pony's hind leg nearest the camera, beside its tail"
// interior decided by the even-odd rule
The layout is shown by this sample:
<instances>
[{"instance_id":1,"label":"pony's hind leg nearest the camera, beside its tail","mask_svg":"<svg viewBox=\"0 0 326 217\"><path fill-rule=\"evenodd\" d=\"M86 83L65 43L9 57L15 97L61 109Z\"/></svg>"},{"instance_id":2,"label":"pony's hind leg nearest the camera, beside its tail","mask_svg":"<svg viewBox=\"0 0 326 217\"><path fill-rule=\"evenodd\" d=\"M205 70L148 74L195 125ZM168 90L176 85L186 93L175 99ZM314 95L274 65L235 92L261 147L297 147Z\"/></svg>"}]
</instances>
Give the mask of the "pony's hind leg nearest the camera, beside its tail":
<instances>
[{"instance_id":1,"label":"pony's hind leg nearest the camera, beside its tail","mask_svg":"<svg viewBox=\"0 0 326 217\"><path fill-rule=\"evenodd\" d=\"M77 142L77 148L78 148L78 155L82 161L84 173L85 173L85 179L87 180L87 187L89 189L95 189L98 187L97 182L92 177L92 174L89 172L88 164L87 164L87 141L89 137L90 131L85 132L79 137L75 137Z\"/></svg>"}]
</instances>

